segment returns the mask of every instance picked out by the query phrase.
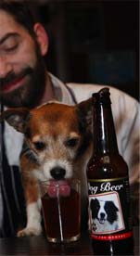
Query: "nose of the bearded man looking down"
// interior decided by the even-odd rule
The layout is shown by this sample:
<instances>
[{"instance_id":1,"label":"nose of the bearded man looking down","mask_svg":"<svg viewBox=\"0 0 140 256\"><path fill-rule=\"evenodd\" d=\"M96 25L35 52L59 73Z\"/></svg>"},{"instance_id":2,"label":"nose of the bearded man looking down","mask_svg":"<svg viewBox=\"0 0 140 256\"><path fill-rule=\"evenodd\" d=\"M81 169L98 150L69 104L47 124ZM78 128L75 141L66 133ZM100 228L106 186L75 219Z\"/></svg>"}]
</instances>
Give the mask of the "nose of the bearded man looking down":
<instances>
[{"instance_id":1,"label":"nose of the bearded man looking down","mask_svg":"<svg viewBox=\"0 0 140 256\"><path fill-rule=\"evenodd\" d=\"M0 78L5 78L11 70L12 64L4 56L0 56Z\"/></svg>"}]
</instances>

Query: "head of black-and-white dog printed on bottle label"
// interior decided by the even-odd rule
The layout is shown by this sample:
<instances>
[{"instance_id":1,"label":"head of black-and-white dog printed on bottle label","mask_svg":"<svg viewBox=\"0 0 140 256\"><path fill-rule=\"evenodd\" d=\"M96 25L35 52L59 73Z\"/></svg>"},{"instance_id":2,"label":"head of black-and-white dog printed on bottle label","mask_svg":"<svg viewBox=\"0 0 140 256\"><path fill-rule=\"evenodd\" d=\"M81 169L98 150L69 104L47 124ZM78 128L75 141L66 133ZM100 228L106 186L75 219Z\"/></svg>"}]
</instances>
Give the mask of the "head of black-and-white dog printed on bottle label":
<instances>
[{"instance_id":1,"label":"head of black-and-white dog printed on bottle label","mask_svg":"<svg viewBox=\"0 0 140 256\"><path fill-rule=\"evenodd\" d=\"M119 210L113 201L104 201L95 198L91 200L90 207L93 220L96 218L100 224L105 224L106 221L113 224L118 219L117 211Z\"/></svg>"}]
</instances>

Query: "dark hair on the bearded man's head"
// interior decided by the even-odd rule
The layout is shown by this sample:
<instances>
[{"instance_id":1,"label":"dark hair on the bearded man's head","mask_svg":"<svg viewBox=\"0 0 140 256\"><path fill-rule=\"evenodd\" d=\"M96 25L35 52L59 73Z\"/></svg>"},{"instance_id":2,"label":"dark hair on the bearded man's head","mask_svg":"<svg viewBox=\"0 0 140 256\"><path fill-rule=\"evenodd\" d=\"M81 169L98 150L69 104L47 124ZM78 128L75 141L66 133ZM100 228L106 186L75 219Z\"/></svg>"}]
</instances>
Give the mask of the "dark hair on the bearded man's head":
<instances>
[{"instance_id":1,"label":"dark hair on the bearded man's head","mask_svg":"<svg viewBox=\"0 0 140 256\"><path fill-rule=\"evenodd\" d=\"M34 36L33 25L35 23L32 11L26 1L0 0L0 10L6 11Z\"/></svg>"}]
</instances>

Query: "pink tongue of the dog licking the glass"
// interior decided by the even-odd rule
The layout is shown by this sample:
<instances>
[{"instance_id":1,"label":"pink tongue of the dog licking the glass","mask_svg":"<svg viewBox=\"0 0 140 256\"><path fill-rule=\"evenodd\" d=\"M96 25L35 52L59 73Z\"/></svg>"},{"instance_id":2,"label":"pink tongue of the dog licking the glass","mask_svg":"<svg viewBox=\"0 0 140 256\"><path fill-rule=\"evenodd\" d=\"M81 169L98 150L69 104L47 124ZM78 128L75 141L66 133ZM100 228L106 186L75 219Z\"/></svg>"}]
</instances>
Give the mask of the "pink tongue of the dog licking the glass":
<instances>
[{"instance_id":1,"label":"pink tongue of the dog licking the glass","mask_svg":"<svg viewBox=\"0 0 140 256\"><path fill-rule=\"evenodd\" d=\"M50 198L57 198L58 193L59 193L59 196L61 197L69 197L70 185L66 180L59 180L59 181L51 180L48 186L47 193Z\"/></svg>"}]
</instances>

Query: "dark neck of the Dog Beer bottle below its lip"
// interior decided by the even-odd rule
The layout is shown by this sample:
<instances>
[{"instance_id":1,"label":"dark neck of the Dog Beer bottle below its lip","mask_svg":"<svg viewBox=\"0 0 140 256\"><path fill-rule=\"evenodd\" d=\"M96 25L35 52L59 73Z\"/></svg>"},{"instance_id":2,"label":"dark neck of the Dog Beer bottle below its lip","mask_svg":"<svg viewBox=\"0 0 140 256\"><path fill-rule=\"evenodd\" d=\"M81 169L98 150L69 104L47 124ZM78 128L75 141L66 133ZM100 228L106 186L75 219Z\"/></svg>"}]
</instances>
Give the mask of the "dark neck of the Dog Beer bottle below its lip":
<instances>
[{"instance_id":1,"label":"dark neck of the Dog Beer bottle below its lip","mask_svg":"<svg viewBox=\"0 0 140 256\"><path fill-rule=\"evenodd\" d=\"M95 155L119 154L110 104L94 107Z\"/></svg>"}]
</instances>

